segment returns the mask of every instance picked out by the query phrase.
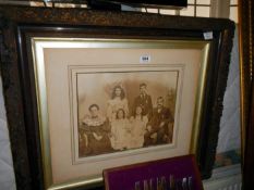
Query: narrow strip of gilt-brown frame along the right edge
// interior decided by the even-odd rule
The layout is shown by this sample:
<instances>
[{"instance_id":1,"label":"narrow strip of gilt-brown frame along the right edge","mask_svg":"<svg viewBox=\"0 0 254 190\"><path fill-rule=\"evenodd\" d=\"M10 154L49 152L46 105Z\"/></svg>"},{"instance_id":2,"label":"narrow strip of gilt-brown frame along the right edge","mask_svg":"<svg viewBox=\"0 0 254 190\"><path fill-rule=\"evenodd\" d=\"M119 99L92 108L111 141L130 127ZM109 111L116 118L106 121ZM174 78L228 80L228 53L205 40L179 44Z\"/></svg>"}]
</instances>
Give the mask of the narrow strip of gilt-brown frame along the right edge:
<instances>
[{"instance_id":1,"label":"narrow strip of gilt-brown frame along the right edge","mask_svg":"<svg viewBox=\"0 0 254 190\"><path fill-rule=\"evenodd\" d=\"M254 3L239 1L243 189L254 180Z\"/></svg>"}]
</instances>

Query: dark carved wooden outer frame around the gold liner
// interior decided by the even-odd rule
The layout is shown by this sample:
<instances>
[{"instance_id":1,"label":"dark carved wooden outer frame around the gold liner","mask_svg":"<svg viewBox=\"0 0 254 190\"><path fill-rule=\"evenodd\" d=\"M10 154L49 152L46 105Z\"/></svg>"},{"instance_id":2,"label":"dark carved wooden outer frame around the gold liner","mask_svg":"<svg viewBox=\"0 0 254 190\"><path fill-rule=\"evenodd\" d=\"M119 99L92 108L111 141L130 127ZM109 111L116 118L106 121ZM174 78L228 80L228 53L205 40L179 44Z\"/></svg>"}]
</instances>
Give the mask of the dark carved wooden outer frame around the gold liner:
<instances>
[{"instance_id":1,"label":"dark carved wooden outer frame around the gold liner","mask_svg":"<svg viewBox=\"0 0 254 190\"><path fill-rule=\"evenodd\" d=\"M61 27L61 30L57 28ZM196 160L209 178L218 141L234 24L131 12L26 7L0 8L4 100L17 189L44 189L38 115L29 37L99 37L204 40L213 31Z\"/></svg>"}]
</instances>

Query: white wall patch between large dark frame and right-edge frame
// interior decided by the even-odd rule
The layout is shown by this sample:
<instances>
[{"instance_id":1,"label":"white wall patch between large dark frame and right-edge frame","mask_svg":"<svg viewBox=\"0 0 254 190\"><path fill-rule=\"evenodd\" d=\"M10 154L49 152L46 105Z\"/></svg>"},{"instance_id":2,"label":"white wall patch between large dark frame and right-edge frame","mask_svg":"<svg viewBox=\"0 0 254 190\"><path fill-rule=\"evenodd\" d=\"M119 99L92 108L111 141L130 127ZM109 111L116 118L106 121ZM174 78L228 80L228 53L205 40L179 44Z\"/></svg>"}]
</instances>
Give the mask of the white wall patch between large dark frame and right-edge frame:
<instances>
[{"instance_id":1,"label":"white wall patch between large dark frame and right-edge frame","mask_svg":"<svg viewBox=\"0 0 254 190\"><path fill-rule=\"evenodd\" d=\"M220 121L217 153L241 148L240 128L240 71L238 29L235 29L229 77L223 99L223 111Z\"/></svg>"}]
</instances>

